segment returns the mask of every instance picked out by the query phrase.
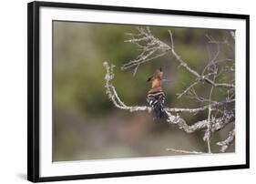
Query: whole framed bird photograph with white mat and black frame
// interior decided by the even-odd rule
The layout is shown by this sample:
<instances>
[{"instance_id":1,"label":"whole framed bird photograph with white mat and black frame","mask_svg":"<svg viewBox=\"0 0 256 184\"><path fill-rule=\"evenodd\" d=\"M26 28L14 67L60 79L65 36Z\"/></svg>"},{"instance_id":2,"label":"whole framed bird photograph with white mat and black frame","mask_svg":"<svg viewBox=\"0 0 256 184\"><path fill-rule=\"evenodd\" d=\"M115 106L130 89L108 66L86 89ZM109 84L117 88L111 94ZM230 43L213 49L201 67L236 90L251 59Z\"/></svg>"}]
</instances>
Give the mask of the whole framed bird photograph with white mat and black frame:
<instances>
[{"instance_id":1,"label":"whole framed bird photograph with white mat and black frame","mask_svg":"<svg viewBox=\"0 0 256 184\"><path fill-rule=\"evenodd\" d=\"M30 181L249 168L249 15L28 4Z\"/></svg>"}]
</instances>

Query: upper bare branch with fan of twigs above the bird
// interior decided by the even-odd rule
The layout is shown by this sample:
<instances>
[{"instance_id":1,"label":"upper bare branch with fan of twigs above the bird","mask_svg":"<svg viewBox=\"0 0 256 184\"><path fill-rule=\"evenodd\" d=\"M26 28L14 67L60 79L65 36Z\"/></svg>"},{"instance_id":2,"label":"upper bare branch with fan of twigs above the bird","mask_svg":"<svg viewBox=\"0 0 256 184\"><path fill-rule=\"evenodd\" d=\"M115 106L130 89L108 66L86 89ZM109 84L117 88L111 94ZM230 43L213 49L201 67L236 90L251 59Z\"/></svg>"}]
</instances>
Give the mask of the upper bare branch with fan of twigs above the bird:
<instances>
[{"instance_id":1,"label":"upper bare branch with fan of twigs above the bird","mask_svg":"<svg viewBox=\"0 0 256 184\"><path fill-rule=\"evenodd\" d=\"M136 75L138 67L141 64L144 64L148 61L152 61L155 58L159 58L161 56L165 56L168 52L172 54L179 61L179 66L183 66L190 74L192 74L200 81L206 81L208 84L213 85L214 87L234 87L233 84L226 83L214 83L208 76L201 76L196 70L192 69L186 61L184 61L175 51L174 49L174 41L171 31L169 30L170 36L170 45L159 40L159 38L153 36L150 32L149 27L142 28L138 27L138 34L128 34L131 36L131 39L125 40L125 42L129 42L138 46L141 50L141 53L135 60L130 60L128 63L121 66L122 70L126 70L128 68L134 68L134 75ZM213 38L210 38L213 40ZM219 53L216 54L216 58L219 56ZM213 60L216 60L216 58Z\"/></svg>"}]
</instances>

